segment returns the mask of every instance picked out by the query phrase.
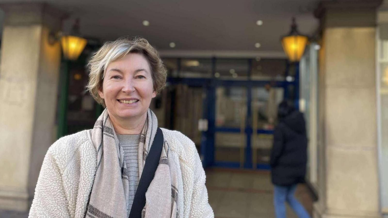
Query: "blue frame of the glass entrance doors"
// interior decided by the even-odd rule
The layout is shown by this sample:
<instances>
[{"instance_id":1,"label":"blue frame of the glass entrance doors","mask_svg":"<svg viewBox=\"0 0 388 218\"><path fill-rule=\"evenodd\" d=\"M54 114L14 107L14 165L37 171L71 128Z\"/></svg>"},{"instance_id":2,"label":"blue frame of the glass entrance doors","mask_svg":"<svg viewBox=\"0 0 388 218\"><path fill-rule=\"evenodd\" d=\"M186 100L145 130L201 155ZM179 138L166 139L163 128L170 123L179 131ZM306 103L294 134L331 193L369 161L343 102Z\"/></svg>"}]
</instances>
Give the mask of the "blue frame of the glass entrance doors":
<instances>
[{"instance_id":1,"label":"blue frame of the glass entrance doors","mask_svg":"<svg viewBox=\"0 0 388 218\"><path fill-rule=\"evenodd\" d=\"M251 59L249 59L249 69L251 72ZM219 80L214 78L215 74L215 58L213 58L213 77L212 78L167 78L167 81L171 84L186 84L191 87L203 87L206 93L206 98L203 99L203 118L208 119L208 130L202 132L201 138L201 156L204 167L218 166L227 168L239 168L239 162L223 162L215 161L215 133L216 132L240 132L240 128L228 128L228 127L216 127L215 126L215 102L216 94L215 90L217 87L247 87L247 114L246 114L246 149L245 149L245 162L244 168L252 168L252 149L251 149L251 135L253 128L251 126L251 101L252 101L252 88L264 87L267 84L271 84L271 87L284 88L284 98L288 98L288 87L289 85L294 86L294 99L295 107L299 106L299 65L296 64L295 75L293 81L252 81L252 80ZM287 66L286 76L288 76ZM179 71L179 69L178 69ZM178 72L180 73L180 72ZM248 74L248 78L251 78ZM257 130L258 134L273 134L272 130ZM268 170L269 164L257 164L257 169Z\"/></svg>"}]
</instances>

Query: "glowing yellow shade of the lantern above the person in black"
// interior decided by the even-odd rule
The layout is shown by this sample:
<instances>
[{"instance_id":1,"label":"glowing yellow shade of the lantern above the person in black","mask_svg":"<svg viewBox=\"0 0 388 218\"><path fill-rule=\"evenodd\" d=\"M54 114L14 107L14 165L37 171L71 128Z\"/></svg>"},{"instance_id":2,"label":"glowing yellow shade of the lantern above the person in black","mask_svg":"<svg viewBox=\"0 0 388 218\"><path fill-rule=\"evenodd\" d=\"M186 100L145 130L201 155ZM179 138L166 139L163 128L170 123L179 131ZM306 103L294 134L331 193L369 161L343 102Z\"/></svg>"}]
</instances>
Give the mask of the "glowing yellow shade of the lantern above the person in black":
<instances>
[{"instance_id":1,"label":"glowing yellow shade of the lantern above the person in black","mask_svg":"<svg viewBox=\"0 0 388 218\"><path fill-rule=\"evenodd\" d=\"M307 36L289 35L282 38L283 50L290 62L300 61L307 44Z\"/></svg>"}]
</instances>

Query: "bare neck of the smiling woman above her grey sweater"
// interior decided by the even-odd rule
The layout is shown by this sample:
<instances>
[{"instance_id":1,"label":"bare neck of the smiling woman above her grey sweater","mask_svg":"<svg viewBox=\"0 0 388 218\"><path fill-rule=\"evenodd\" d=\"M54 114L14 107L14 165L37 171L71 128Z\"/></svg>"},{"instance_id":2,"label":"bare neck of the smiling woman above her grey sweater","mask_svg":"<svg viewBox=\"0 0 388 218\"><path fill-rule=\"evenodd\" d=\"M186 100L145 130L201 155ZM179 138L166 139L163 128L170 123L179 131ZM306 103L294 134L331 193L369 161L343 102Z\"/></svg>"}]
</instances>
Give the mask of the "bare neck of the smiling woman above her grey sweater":
<instances>
[{"instance_id":1,"label":"bare neck of the smiling woman above her grey sweater","mask_svg":"<svg viewBox=\"0 0 388 218\"><path fill-rule=\"evenodd\" d=\"M139 117L120 119L114 116L109 116L111 119L114 131L120 135L138 135L142 132L147 113Z\"/></svg>"}]
</instances>

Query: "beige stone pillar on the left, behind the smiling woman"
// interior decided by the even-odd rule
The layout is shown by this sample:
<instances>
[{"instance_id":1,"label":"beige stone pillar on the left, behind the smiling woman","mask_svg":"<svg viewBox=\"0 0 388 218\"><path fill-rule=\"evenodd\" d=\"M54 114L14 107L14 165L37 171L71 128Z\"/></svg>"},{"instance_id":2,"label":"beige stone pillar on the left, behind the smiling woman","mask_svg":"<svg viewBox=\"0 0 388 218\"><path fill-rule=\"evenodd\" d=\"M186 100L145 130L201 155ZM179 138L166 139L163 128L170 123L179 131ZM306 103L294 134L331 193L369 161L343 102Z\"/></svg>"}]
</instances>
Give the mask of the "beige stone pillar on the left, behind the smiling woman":
<instances>
[{"instance_id":1,"label":"beige stone pillar on the left, behind the smiling woman","mask_svg":"<svg viewBox=\"0 0 388 218\"><path fill-rule=\"evenodd\" d=\"M0 59L0 209L27 211L54 141L62 12L44 3L3 4Z\"/></svg>"}]
</instances>

